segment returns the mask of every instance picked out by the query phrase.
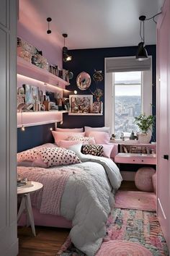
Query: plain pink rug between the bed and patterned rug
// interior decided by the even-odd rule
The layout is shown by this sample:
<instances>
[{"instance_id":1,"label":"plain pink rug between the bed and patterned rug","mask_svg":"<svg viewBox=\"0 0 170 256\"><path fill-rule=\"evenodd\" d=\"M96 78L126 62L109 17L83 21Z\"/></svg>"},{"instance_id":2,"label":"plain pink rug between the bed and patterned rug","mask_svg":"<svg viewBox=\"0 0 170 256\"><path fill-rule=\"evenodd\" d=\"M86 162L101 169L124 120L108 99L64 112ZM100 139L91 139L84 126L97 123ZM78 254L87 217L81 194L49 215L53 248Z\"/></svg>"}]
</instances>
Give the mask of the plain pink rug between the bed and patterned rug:
<instances>
[{"instance_id":1,"label":"plain pink rug between the bed and patterned rug","mask_svg":"<svg viewBox=\"0 0 170 256\"><path fill-rule=\"evenodd\" d=\"M156 211L156 195L142 191L117 191L115 208Z\"/></svg>"}]
</instances>

